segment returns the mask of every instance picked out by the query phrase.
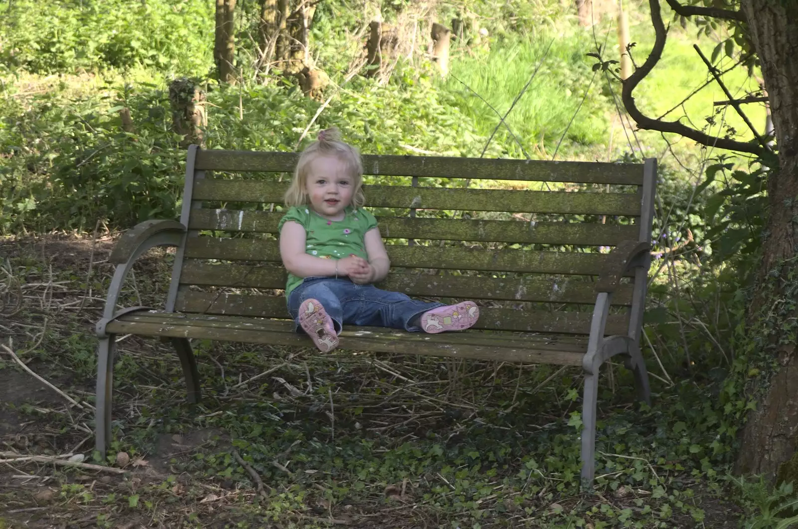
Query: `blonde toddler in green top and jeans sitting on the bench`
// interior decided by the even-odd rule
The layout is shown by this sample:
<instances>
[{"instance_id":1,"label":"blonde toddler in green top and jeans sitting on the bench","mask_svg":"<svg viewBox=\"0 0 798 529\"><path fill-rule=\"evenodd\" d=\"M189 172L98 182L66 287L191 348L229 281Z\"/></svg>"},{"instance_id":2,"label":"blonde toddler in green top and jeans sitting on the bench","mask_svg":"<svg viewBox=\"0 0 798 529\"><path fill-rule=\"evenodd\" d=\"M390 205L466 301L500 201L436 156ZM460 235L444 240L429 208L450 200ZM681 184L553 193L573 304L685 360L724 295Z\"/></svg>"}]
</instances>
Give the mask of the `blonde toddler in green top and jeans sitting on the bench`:
<instances>
[{"instance_id":1,"label":"blonde toddler in green top and jeans sitting on the bench","mask_svg":"<svg viewBox=\"0 0 798 529\"><path fill-rule=\"evenodd\" d=\"M390 262L377 219L362 209L362 174L360 153L335 129L319 132L299 156L278 227L294 322L324 353L338 347L345 323L426 333L473 326L474 302L421 302L373 286Z\"/></svg>"}]
</instances>

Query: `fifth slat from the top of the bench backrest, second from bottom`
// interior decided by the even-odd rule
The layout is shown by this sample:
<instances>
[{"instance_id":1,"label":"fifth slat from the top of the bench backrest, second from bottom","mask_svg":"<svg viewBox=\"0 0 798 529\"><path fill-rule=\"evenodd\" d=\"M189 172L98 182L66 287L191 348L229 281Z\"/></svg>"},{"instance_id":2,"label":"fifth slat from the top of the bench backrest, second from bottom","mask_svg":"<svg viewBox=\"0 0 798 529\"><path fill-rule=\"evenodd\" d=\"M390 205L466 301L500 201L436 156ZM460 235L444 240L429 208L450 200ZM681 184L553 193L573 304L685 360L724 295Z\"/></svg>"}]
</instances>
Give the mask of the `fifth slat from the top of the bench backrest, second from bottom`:
<instances>
[{"instance_id":1,"label":"fifth slat from the top of the bench backrest, second from bottom","mask_svg":"<svg viewBox=\"0 0 798 529\"><path fill-rule=\"evenodd\" d=\"M277 264L248 266L236 263L207 263L187 259L180 282L186 285L235 286L239 288L284 289L286 271ZM595 283L568 278L485 278L456 275L389 274L382 289L409 296L496 299L522 302L593 304ZM621 285L613 296L614 305L629 306L632 286Z\"/></svg>"}]
</instances>

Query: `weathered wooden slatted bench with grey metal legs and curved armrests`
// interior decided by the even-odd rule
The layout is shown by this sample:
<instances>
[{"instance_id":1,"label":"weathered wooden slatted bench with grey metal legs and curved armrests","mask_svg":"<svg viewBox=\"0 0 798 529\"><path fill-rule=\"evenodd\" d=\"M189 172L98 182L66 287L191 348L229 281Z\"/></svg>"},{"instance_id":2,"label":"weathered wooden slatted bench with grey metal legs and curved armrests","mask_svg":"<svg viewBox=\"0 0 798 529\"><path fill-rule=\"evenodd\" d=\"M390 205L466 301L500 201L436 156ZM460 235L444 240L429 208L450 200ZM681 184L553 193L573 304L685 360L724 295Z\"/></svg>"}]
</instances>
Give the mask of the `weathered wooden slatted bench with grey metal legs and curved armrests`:
<instances>
[{"instance_id":1,"label":"weathered wooden slatted bench with grey metal legs and curved armrests","mask_svg":"<svg viewBox=\"0 0 798 529\"><path fill-rule=\"evenodd\" d=\"M149 220L121 235L110 257L116 273L97 323L101 453L111 437L117 334L171 340L190 402L199 400L191 338L312 346L286 319L281 290L286 273L277 242L279 204L290 180L285 173L293 171L297 159L297 153L192 145L180 222ZM605 164L363 156L363 161L366 175L395 184L365 187L392 263L380 286L421 298L474 299L481 317L475 329L462 333L350 327L343 330L340 347L581 366L582 478L583 486L590 486L599 367L622 355L639 397L650 399L639 344L656 160ZM521 189L467 188L466 179L494 187L504 180L504 187ZM440 187L444 182L448 188ZM531 186L554 190L527 189ZM157 246L176 247L164 308L117 310L133 263Z\"/></svg>"}]
</instances>

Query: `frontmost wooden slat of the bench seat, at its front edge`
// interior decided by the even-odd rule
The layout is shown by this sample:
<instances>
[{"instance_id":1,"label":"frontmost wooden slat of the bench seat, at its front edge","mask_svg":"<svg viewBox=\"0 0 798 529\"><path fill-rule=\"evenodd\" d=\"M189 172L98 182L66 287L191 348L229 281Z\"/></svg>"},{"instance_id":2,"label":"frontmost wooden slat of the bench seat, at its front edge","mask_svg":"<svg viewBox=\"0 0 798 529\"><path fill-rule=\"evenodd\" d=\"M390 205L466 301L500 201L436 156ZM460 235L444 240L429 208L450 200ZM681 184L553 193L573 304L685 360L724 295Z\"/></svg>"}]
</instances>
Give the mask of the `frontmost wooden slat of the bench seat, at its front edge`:
<instances>
[{"instance_id":1,"label":"frontmost wooden slat of the bench seat, at its front edge","mask_svg":"<svg viewBox=\"0 0 798 529\"><path fill-rule=\"evenodd\" d=\"M109 333L140 334L144 336L165 336L197 339L243 341L247 343L268 343L274 345L290 345L294 347L312 347L313 344L305 335L294 333L290 324L283 330L249 330L225 329L205 326L164 325L160 322L128 322L117 320L109 323ZM369 330L371 328L368 328ZM375 336L376 338L372 338ZM513 349L496 345L452 345L446 341L425 341L419 338L429 337L421 333L391 333L374 335L363 334L358 328L344 330L342 348L377 353L418 354L437 357L472 358L495 361L539 363L554 365L582 365L583 353L557 351L547 349ZM415 338L415 339L413 339Z\"/></svg>"}]
</instances>

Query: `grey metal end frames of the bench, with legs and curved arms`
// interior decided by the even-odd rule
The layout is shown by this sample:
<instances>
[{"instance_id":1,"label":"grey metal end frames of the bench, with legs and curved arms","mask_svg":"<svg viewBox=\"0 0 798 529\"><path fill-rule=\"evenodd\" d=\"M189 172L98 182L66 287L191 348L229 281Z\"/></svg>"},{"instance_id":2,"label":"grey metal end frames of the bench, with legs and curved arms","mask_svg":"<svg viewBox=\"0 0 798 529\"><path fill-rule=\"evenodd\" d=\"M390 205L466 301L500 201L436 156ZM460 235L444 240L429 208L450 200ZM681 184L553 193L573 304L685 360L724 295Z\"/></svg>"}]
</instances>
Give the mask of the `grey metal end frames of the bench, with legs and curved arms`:
<instances>
[{"instance_id":1,"label":"grey metal end frames of the bench, with legs and curved arms","mask_svg":"<svg viewBox=\"0 0 798 529\"><path fill-rule=\"evenodd\" d=\"M184 188L184 202L180 222L174 220L148 220L138 224L120 236L110 255L109 262L116 266L113 280L108 290L105 310L102 318L97 322L96 332L100 339L97 361L97 450L105 456L105 450L111 439L111 407L113 389L113 363L116 335L118 330L109 331L109 326L121 322L131 314L149 310L149 307L132 306L117 310L117 301L128 273L144 252L154 247L176 247L175 265L172 271L172 282L168 291L165 312L174 313L178 287L180 285L180 272L184 261L187 241L196 235L188 229L189 215L192 207L198 207L192 199L196 179L204 177L204 171L196 171L195 162L199 148L192 145L188 150L186 164L186 178ZM255 153L239 153L246 160L247 156ZM409 163L424 163L420 157L413 156L364 156L370 158L404 158L411 160ZM414 160L414 161L413 161ZM421 160L421 161L419 161ZM460 159L462 160L462 159ZM438 159L440 161L440 159ZM484 160L488 161L488 160ZM502 162L517 162L519 165L528 163L526 160L500 160ZM554 164L555 162L538 162L539 164ZM284 170L284 169L283 169ZM583 434L582 434L582 484L583 488L590 488L595 476L595 428L596 428L596 401L599 389L599 368L610 357L622 355L626 368L634 374L638 397L641 401L650 404L650 389L646 364L643 360L640 340L642 332L642 317L646 301L647 273L650 266L650 243L652 222L654 216L654 194L656 188L657 160L648 159L642 165L642 187L639 193L641 199L641 214L639 221L639 236L637 240L625 240L619 243L608 255L605 269L595 282L595 307L587 339L587 351L584 353L581 365L584 372L583 392ZM523 192L523 191L519 191ZM621 278L634 271L634 290L630 307L628 332L605 336L606 322L610 314L610 302L618 289ZM127 332L136 332L135 329ZM144 334L144 333L142 333ZM188 389L188 402L199 401L199 374L194 353L190 345L191 335L167 332L164 330L150 330L148 335L160 335L164 340L171 341L176 349L177 356L183 368L183 373ZM253 341L253 340L247 340ZM308 345L310 341L308 340ZM342 342L346 347L346 341ZM379 350L379 349L377 349ZM409 351L409 353L413 353ZM450 355L451 356L451 355ZM469 357L479 357L478 354ZM492 359L486 357L485 359Z\"/></svg>"}]
</instances>

